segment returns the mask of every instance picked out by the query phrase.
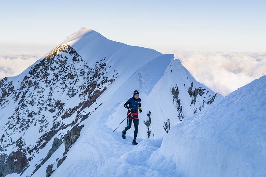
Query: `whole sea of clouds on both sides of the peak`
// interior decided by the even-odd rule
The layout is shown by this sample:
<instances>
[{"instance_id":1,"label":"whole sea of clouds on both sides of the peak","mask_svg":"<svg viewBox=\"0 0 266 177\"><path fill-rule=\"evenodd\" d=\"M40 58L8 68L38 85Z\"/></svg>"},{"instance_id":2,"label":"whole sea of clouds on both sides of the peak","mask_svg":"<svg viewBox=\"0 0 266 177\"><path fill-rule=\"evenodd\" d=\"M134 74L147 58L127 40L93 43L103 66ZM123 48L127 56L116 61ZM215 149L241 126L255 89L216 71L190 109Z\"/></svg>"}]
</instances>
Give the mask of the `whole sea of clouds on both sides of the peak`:
<instances>
[{"instance_id":1,"label":"whole sea of clouds on both sides of the peak","mask_svg":"<svg viewBox=\"0 0 266 177\"><path fill-rule=\"evenodd\" d=\"M196 80L223 96L266 75L266 53L178 50L167 53L173 53ZM41 52L0 53L0 79L17 76L43 55Z\"/></svg>"}]
</instances>

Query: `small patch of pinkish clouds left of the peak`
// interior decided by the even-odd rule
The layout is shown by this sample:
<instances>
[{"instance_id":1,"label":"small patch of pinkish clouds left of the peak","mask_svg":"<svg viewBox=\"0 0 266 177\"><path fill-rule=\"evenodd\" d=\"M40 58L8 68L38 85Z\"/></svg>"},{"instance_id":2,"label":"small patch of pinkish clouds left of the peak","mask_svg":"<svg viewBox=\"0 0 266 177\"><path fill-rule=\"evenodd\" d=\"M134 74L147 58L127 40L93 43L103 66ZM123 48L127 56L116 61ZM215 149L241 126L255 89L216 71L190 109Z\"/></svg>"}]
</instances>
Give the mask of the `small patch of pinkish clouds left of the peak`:
<instances>
[{"instance_id":1,"label":"small patch of pinkish clouds left of the peak","mask_svg":"<svg viewBox=\"0 0 266 177\"><path fill-rule=\"evenodd\" d=\"M40 52L0 53L0 79L19 75L42 56Z\"/></svg>"}]
</instances>

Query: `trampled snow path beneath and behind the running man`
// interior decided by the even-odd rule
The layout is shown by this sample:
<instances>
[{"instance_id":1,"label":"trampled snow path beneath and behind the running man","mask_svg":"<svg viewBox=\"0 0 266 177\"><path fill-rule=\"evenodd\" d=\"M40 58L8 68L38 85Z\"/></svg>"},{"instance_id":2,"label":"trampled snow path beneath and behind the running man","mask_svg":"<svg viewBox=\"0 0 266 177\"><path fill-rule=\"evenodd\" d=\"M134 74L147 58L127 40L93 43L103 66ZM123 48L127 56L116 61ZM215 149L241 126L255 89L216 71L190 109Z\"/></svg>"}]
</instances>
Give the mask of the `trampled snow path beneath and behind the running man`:
<instances>
[{"instance_id":1,"label":"trampled snow path beneath and behind the running man","mask_svg":"<svg viewBox=\"0 0 266 177\"><path fill-rule=\"evenodd\" d=\"M145 98L145 94L142 96ZM119 96L109 98L88 119L84 120L85 128L81 130L79 139L68 151L63 164L51 176L139 177L165 176L165 172L168 176L176 176L168 166L162 167L164 172L150 168L148 161L153 152L160 148L162 138L139 138L147 131L143 123L145 112L139 114L139 134L136 139L138 145L132 145L134 126L127 131L126 139L122 138L122 130L127 126L126 121L113 132L127 115L127 110L123 107L127 99L120 101L120 105L109 104L109 101L118 102L119 100ZM112 125L110 120L116 121L117 124L110 127Z\"/></svg>"}]
</instances>

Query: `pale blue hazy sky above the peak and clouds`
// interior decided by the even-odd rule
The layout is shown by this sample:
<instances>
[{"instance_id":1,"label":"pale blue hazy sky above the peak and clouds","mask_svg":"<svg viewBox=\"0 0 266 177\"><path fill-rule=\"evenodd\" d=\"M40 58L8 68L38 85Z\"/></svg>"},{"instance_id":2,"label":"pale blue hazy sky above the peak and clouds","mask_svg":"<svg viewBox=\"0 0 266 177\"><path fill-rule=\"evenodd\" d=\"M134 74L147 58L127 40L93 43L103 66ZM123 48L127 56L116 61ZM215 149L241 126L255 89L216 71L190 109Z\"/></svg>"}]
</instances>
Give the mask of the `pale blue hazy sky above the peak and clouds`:
<instances>
[{"instance_id":1,"label":"pale blue hazy sky above the peak and clouds","mask_svg":"<svg viewBox=\"0 0 266 177\"><path fill-rule=\"evenodd\" d=\"M0 52L48 52L81 27L160 52L266 51L266 1L0 0Z\"/></svg>"}]
</instances>

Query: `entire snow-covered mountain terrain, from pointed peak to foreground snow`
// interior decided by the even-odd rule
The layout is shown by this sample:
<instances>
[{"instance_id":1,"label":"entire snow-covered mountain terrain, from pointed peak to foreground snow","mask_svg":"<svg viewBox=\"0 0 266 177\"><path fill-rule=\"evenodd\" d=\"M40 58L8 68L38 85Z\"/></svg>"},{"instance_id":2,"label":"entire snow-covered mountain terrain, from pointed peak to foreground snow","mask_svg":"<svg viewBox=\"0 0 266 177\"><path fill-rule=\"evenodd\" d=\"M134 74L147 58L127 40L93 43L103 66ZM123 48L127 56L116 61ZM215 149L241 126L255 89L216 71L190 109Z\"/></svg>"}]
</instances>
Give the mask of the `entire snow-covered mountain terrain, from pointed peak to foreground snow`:
<instances>
[{"instance_id":1,"label":"entire snow-covered mountain terrain, from pointed peak to foreground snow","mask_svg":"<svg viewBox=\"0 0 266 177\"><path fill-rule=\"evenodd\" d=\"M2 79L0 177L265 175L265 76L224 98L173 58L81 28Z\"/></svg>"}]
</instances>

